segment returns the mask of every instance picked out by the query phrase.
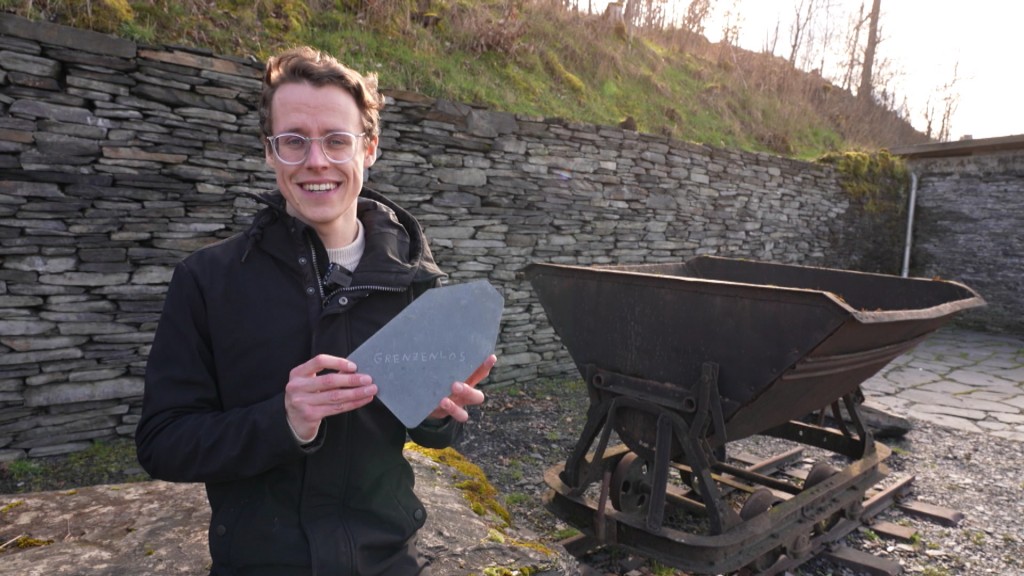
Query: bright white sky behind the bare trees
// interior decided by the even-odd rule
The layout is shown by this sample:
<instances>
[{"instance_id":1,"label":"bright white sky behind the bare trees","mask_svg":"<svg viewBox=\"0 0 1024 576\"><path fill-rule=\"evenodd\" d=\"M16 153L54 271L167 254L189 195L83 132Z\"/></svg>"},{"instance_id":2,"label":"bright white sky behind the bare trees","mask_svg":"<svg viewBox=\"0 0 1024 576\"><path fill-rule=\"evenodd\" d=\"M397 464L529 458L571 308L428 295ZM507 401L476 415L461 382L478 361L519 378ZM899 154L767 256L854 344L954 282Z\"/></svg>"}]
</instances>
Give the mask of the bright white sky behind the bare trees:
<instances>
[{"instance_id":1,"label":"bright white sky behind the bare trees","mask_svg":"<svg viewBox=\"0 0 1024 576\"><path fill-rule=\"evenodd\" d=\"M761 50L767 31L780 22L776 55L787 57L788 22L799 0L713 0L719 11L733 1L741 16L739 44ZM870 0L833 0L847 12ZM688 0L673 4L685 8ZM846 29L844 22L836 25ZM719 30L708 27L715 41ZM959 94L950 121L950 140L1024 134L1024 75L1015 64L1024 54L1024 2L1020 0L882 0L883 42L876 57L888 58L900 73L893 85L897 101L906 97L910 120L924 131L929 97L939 115L941 87L953 79ZM938 123L933 124L935 131Z\"/></svg>"}]
</instances>

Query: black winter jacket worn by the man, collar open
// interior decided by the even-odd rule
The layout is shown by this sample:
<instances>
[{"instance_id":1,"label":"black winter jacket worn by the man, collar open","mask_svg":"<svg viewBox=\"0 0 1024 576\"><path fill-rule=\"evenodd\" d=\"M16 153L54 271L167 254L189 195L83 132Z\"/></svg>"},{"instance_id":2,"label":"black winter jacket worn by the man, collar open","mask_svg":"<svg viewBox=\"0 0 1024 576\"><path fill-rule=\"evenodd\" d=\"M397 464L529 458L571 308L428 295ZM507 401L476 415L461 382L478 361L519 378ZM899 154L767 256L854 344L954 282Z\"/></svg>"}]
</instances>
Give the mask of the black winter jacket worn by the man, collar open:
<instances>
[{"instance_id":1,"label":"black winter jacket worn by the man, collar open","mask_svg":"<svg viewBox=\"0 0 1024 576\"><path fill-rule=\"evenodd\" d=\"M459 424L407 430L374 400L300 446L284 392L294 367L348 356L444 275L415 218L372 191L358 200L366 251L350 279L323 280L316 234L280 195L268 204L248 232L175 269L146 365L139 461L157 479L206 483L211 574L418 574L426 511L402 446L407 431L447 446Z\"/></svg>"}]
</instances>

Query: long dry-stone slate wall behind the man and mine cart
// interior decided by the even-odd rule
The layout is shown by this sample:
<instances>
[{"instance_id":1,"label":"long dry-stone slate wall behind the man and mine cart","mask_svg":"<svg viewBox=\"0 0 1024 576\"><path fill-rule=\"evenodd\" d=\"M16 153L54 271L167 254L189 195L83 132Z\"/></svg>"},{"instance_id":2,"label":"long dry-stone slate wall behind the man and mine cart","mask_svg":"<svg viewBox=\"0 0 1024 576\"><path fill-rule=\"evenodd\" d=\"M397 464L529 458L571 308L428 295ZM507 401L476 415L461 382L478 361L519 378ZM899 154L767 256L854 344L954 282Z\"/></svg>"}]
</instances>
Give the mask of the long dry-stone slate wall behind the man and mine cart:
<instances>
[{"instance_id":1,"label":"long dry-stone slate wall behind the man and mine cart","mask_svg":"<svg viewBox=\"0 0 1024 576\"><path fill-rule=\"evenodd\" d=\"M271 190L260 63L0 14L0 460L128 436L171 270ZM386 78L384 79L386 83ZM826 167L389 92L372 186L506 298L492 382L574 374L520 275L719 254L841 265Z\"/></svg>"}]
</instances>

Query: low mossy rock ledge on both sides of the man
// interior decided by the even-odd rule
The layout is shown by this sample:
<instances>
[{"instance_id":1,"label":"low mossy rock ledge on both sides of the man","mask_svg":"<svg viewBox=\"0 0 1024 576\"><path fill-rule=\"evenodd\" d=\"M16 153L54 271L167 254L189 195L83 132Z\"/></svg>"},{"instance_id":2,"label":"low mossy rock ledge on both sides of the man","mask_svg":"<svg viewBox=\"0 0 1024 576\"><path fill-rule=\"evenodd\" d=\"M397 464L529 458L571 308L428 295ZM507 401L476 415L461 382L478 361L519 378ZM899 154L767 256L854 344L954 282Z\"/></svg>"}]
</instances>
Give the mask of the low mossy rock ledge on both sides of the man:
<instances>
[{"instance_id":1,"label":"low mossy rock ledge on both sides of the man","mask_svg":"<svg viewBox=\"0 0 1024 576\"><path fill-rule=\"evenodd\" d=\"M474 513L454 487L454 468L418 452L406 454L429 515L419 547L434 576L480 574L488 567L579 573L564 548ZM5 574L23 576L205 576L209 520L201 484L154 481L3 494L0 544L6 544L0 563ZM19 537L40 545L19 548Z\"/></svg>"}]
</instances>

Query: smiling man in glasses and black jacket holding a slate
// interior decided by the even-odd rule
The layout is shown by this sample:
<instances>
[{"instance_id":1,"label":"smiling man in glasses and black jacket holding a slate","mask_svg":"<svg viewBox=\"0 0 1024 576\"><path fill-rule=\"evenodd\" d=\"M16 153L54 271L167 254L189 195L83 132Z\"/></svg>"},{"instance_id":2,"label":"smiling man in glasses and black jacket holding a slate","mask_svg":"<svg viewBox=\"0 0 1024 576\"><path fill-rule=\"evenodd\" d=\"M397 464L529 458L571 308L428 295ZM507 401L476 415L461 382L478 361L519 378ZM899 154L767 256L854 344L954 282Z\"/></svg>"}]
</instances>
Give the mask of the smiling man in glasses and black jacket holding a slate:
<instances>
[{"instance_id":1,"label":"smiling man in glasses and black jacket holding a slate","mask_svg":"<svg viewBox=\"0 0 1024 576\"><path fill-rule=\"evenodd\" d=\"M205 482L211 575L426 574L407 436L454 442L492 356L419 426L345 359L444 277L420 224L362 188L383 97L310 48L267 64L260 128L280 194L174 271L146 366L139 460Z\"/></svg>"}]
</instances>

